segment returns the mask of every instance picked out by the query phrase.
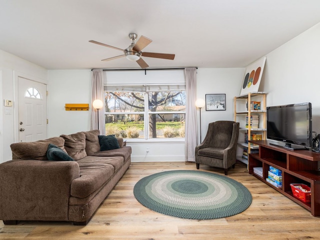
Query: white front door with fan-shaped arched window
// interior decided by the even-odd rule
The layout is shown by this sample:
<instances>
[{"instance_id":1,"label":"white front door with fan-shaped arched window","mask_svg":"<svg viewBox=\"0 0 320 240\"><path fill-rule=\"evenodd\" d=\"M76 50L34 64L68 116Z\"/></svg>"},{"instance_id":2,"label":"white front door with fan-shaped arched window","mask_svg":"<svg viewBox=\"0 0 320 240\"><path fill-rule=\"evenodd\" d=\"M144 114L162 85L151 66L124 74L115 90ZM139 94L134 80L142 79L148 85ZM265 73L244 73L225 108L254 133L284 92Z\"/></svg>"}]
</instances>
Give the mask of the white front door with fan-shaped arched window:
<instances>
[{"instance_id":1,"label":"white front door with fan-shaped arched window","mask_svg":"<svg viewBox=\"0 0 320 240\"><path fill-rule=\"evenodd\" d=\"M19 141L46 139L46 84L18 77Z\"/></svg>"}]
</instances>

